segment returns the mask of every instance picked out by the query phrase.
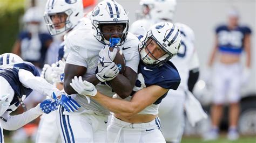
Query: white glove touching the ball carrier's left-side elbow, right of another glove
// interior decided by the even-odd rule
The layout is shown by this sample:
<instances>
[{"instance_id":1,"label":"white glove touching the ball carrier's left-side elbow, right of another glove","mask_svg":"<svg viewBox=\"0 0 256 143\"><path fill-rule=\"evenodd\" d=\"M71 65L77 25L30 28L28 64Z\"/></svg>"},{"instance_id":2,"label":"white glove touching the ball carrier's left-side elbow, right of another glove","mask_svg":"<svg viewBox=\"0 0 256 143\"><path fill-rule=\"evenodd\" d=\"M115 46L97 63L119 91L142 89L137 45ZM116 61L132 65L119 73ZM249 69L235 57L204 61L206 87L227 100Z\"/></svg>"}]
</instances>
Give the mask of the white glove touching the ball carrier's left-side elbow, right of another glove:
<instances>
[{"instance_id":1,"label":"white glove touching the ball carrier's left-side elbow, right of another glove","mask_svg":"<svg viewBox=\"0 0 256 143\"><path fill-rule=\"evenodd\" d=\"M65 63L62 60L58 61L58 65L52 67L52 81L53 82L64 82L64 69Z\"/></svg>"}]
</instances>

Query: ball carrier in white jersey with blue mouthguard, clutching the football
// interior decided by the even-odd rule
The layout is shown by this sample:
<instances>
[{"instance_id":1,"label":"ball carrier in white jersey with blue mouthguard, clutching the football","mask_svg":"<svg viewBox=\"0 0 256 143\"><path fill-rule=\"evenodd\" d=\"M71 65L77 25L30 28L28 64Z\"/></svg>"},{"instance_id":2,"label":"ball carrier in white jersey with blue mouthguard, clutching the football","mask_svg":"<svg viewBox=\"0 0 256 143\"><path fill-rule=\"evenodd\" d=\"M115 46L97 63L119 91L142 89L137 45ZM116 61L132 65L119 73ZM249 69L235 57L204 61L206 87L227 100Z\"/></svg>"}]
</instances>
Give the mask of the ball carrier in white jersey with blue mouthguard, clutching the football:
<instances>
[{"instance_id":1,"label":"ball carrier in white jersey with blue mouthguard, clutching the football","mask_svg":"<svg viewBox=\"0 0 256 143\"><path fill-rule=\"evenodd\" d=\"M129 96L136 82L139 41L128 32L127 13L115 1L100 2L83 22L65 40L70 53L64 72L64 89L82 108L76 113L60 108L58 128L63 142L105 142L109 110L93 99L89 104L86 96L78 94L70 86L71 80L74 76L82 76L83 80L92 82L110 97L115 93L123 98ZM113 41L116 43L113 44ZM112 62L117 52L116 48L109 51L113 45L119 46L124 53L126 68L123 74L119 74L116 64ZM103 64L98 64L99 56Z\"/></svg>"}]
</instances>

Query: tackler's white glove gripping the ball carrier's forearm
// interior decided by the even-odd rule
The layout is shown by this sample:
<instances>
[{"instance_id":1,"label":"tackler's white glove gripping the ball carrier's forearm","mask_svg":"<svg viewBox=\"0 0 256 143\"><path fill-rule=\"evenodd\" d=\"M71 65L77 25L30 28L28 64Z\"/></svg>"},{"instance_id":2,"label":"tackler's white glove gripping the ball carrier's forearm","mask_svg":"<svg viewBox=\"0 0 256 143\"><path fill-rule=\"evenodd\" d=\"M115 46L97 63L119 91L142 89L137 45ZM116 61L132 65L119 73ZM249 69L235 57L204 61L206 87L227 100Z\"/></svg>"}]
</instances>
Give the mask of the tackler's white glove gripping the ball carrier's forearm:
<instances>
[{"instance_id":1,"label":"tackler's white glove gripping the ball carrier's forearm","mask_svg":"<svg viewBox=\"0 0 256 143\"><path fill-rule=\"evenodd\" d=\"M95 85L90 82L83 81L82 76L79 76L78 78L75 76L72 79L72 83L70 83L70 85L75 91L77 91L78 94L84 95L88 103L90 103L90 98L87 95L95 96L97 94Z\"/></svg>"}]
</instances>

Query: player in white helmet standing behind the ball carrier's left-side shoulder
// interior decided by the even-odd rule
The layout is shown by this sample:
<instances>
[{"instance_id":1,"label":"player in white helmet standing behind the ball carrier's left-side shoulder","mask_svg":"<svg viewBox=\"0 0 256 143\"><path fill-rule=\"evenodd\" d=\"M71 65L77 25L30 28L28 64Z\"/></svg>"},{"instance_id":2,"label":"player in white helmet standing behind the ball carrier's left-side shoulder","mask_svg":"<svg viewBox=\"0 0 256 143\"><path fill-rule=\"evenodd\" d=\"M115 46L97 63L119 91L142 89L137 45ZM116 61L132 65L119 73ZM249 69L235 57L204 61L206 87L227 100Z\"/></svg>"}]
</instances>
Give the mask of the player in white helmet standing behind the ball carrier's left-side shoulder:
<instances>
[{"instance_id":1,"label":"player in white helmet standing behind the ball carrier's left-side shoulder","mask_svg":"<svg viewBox=\"0 0 256 143\"><path fill-rule=\"evenodd\" d=\"M82 22L83 18L83 3L82 0L70 3L65 0L48 0L45 6L44 19L48 31L51 35L68 35L72 30L75 30ZM63 90L63 75L58 74L59 68L65 66L65 59L68 56L69 49L65 48L64 41L59 46L58 60L59 63L53 63L52 66L44 65L41 76L46 81L56 85L59 90ZM57 58L57 55L56 55ZM58 65L58 67L57 67ZM62 70L60 70L62 71ZM61 72L63 73L63 71ZM36 142L57 142L60 138L58 127L56 124L57 111L49 114L43 114L39 123Z\"/></svg>"}]
</instances>

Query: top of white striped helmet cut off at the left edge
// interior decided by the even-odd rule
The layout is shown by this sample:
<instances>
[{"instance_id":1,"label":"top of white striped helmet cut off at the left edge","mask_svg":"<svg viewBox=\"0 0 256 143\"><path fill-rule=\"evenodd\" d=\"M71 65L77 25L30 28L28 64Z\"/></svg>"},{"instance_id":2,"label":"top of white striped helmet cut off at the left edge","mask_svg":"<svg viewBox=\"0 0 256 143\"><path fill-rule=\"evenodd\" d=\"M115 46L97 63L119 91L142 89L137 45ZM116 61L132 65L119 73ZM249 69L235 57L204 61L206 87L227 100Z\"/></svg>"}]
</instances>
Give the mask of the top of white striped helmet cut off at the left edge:
<instances>
[{"instance_id":1,"label":"top of white striped helmet cut off at the left edge","mask_svg":"<svg viewBox=\"0 0 256 143\"><path fill-rule=\"evenodd\" d=\"M0 55L0 66L24 62L21 57L12 53Z\"/></svg>"}]
</instances>

